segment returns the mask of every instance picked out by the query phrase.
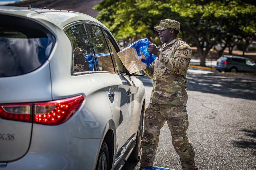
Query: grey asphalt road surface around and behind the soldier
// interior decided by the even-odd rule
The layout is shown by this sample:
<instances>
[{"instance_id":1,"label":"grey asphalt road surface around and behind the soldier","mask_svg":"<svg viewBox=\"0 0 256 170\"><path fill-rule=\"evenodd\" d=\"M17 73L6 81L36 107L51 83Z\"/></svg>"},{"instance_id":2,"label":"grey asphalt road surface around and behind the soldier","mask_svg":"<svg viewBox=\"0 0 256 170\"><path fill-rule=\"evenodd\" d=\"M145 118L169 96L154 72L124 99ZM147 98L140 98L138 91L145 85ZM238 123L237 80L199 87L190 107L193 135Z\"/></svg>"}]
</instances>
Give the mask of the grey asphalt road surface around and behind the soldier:
<instances>
[{"instance_id":1,"label":"grey asphalt road surface around and behind the soldier","mask_svg":"<svg viewBox=\"0 0 256 170\"><path fill-rule=\"evenodd\" d=\"M189 69L188 136L201 170L256 169L256 81L208 75ZM140 77L149 103L152 82ZM182 169L167 124L161 129L154 166ZM138 169L126 162L122 170Z\"/></svg>"}]
</instances>

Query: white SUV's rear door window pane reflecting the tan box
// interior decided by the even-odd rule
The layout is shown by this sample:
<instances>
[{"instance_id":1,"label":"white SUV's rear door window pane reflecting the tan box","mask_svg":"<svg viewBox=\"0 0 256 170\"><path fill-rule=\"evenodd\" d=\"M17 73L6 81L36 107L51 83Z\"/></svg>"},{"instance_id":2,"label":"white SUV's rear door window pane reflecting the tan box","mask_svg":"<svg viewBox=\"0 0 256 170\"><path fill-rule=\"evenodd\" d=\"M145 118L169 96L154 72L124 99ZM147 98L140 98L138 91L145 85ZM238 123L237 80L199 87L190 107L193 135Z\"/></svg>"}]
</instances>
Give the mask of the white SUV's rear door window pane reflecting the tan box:
<instances>
[{"instance_id":1,"label":"white SUV's rear door window pane reflecting the tan box","mask_svg":"<svg viewBox=\"0 0 256 170\"><path fill-rule=\"evenodd\" d=\"M94 63L98 71L115 72L111 52L105 40L100 27L95 25L86 25L88 38L91 43L93 55L95 56Z\"/></svg>"}]
</instances>

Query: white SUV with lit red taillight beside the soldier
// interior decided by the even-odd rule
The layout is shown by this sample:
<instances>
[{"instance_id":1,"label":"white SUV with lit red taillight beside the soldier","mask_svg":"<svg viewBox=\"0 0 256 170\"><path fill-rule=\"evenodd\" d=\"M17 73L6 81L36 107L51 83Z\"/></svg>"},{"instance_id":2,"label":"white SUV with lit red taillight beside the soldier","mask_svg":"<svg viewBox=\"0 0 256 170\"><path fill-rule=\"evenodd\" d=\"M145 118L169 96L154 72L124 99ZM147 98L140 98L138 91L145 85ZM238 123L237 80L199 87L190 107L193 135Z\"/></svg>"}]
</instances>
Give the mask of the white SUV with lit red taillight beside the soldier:
<instances>
[{"instance_id":1,"label":"white SUV with lit red taillight beside the soldier","mask_svg":"<svg viewBox=\"0 0 256 170\"><path fill-rule=\"evenodd\" d=\"M0 7L0 167L120 169L140 159L145 89L81 13Z\"/></svg>"}]
</instances>

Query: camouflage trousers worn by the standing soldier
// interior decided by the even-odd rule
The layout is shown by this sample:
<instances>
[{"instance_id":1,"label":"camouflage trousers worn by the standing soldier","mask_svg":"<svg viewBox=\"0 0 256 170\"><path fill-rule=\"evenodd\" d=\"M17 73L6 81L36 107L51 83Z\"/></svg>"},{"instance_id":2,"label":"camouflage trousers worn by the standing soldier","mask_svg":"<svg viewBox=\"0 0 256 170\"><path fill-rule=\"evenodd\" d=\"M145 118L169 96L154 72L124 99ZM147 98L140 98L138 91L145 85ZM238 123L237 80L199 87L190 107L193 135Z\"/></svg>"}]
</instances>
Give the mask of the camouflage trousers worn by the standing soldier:
<instances>
[{"instance_id":1,"label":"camouflage trousers worn by the standing soldier","mask_svg":"<svg viewBox=\"0 0 256 170\"><path fill-rule=\"evenodd\" d=\"M180 157L183 170L198 169L195 151L188 139L188 116L186 105L150 103L145 110L144 134L141 141L141 168L153 166L159 141L160 129L167 122L172 135L172 144Z\"/></svg>"}]
</instances>

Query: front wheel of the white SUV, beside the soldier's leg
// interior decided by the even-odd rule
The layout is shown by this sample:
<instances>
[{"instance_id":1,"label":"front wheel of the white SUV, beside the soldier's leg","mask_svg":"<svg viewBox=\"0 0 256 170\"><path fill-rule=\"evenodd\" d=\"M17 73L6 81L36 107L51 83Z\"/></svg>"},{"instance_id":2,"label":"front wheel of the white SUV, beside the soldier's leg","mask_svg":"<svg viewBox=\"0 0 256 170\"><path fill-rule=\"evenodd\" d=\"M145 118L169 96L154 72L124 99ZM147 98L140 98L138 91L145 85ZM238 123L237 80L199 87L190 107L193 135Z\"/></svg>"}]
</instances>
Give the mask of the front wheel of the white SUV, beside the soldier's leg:
<instances>
[{"instance_id":1,"label":"front wheel of the white SUV, beside the soldier's leg","mask_svg":"<svg viewBox=\"0 0 256 170\"><path fill-rule=\"evenodd\" d=\"M135 147L132 150L132 153L129 157L130 161L139 161L140 157L141 157L141 138L143 135L143 119L142 119L142 115L143 115L144 111L142 111L141 116L140 116L140 125L138 127L138 132L137 132L137 136L135 139Z\"/></svg>"}]
</instances>

